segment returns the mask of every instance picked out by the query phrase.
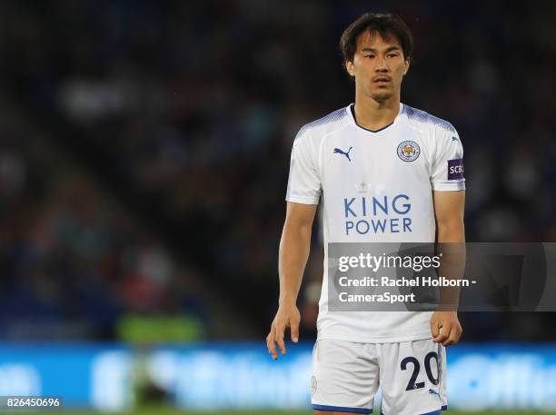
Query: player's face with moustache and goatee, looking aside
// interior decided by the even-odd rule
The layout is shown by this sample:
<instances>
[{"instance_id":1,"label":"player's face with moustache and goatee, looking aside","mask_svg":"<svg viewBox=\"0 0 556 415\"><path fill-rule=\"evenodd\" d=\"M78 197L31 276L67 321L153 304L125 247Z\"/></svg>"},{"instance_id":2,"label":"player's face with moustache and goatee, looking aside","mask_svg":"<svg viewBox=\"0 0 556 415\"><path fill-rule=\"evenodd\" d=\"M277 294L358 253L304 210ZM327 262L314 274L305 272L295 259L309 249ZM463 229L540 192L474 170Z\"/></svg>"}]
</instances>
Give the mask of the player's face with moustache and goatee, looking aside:
<instances>
[{"instance_id":1,"label":"player's face with moustache and goatee, looking aside","mask_svg":"<svg viewBox=\"0 0 556 415\"><path fill-rule=\"evenodd\" d=\"M346 61L349 74L355 76L357 90L377 102L400 94L403 75L409 69L402 45L393 36L382 39L376 32L365 31L357 39L353 62Z\"/></svg>"}]
</instances>

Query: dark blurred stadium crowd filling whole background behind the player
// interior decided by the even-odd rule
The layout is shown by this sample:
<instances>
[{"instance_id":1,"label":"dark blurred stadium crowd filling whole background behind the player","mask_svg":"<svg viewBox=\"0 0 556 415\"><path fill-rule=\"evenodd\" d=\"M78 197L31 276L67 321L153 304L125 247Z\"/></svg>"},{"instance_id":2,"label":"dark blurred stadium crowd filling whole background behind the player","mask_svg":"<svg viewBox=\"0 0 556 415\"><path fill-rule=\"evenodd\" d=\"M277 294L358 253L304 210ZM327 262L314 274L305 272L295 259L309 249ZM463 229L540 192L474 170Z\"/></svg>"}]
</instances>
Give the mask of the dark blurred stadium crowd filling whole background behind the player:
<instances>
[{"instance_id":1,"label":"dark blurred stadium crowd filling whole background behind the player","mask_svg":"<svg viewBox=\"0 0 556 415\"><path fill-rule=\"evenodd\" d=\"M551 2L1 7L4 339L134 338L130 315L184 319L177 340L262 336L293 137L352 102L337 42L370 8L412 28L402 102L462 137L468 241L556 239ZM308 334L322 279L313 244ZM556 339L541 330L550 313L462 320L468 341Z\"/></svg>"}]
</instances>

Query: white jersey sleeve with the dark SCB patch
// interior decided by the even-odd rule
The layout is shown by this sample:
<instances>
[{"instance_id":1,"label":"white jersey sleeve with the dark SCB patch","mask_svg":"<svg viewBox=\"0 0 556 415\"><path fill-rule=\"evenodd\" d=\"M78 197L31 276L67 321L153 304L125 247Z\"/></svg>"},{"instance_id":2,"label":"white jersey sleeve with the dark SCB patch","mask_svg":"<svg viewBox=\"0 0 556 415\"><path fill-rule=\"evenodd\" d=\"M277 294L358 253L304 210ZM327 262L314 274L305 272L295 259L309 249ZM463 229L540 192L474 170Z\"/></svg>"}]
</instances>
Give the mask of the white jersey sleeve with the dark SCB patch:
<instances>
[{"instance_id":1,"label":"white jersey sleeve with the dark SCB patch","mask_svg":"<svg viewBox=\"0 0 556 415\"><path fill-rule=\"evenodd\" d=\"M452 129L437 127L436 144L432 163L432 190L440 192L465 190L463 146L458 132L453 127Z\"/></svg>"}]
</instances>

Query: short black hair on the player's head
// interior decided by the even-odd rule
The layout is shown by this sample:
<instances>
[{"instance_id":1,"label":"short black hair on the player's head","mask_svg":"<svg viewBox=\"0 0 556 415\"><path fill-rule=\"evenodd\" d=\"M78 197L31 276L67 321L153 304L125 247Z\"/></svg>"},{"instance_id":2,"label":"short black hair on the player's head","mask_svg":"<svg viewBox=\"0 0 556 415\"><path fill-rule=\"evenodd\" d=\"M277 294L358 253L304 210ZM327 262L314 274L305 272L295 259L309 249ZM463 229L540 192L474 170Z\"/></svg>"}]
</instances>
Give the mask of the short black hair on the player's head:
<instances>
[{"instance_id":1,"label":"short black hair on the player's head","mask_svg":"<svg viewBox=\"0 0 556 415\"><path fill-rule=\"evenodd\" d=\"M402 46L403 58L411 60L413 52L412 32L402 18L392 13L365 13L343 31L340 38L343 62L353 62L353 55L357 50L357 39L359 39L359 35L366 31L378 32L384 40L389 39L391 35L394 36Z\"/></svg>"}]
</instances>

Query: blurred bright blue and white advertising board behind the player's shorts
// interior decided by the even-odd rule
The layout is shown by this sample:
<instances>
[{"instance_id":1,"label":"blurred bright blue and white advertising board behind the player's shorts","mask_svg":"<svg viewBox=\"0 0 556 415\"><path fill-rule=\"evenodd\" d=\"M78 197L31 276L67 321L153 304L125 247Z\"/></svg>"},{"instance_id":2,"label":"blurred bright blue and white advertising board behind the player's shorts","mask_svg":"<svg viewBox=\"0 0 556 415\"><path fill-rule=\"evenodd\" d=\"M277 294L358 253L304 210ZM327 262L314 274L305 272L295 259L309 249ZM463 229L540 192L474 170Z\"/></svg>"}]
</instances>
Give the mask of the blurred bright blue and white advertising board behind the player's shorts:
<instances>
[{"instance_id":1,"label":"blurred bright blue and white advertising board behind the player's shorts","mask_svg":"<svg viewBox=\"0 0 556 415\"><path fill-rule=\"evenodd\" d=\"M5 344L0 395L59 396L66 407L125 410L141 378L183 409L308 410L312 347L290 344L273 361L262 342L151 349ZM556 410L556 345L461 344L447 356L454 410Z\"/></svg>"}]
</instances>

